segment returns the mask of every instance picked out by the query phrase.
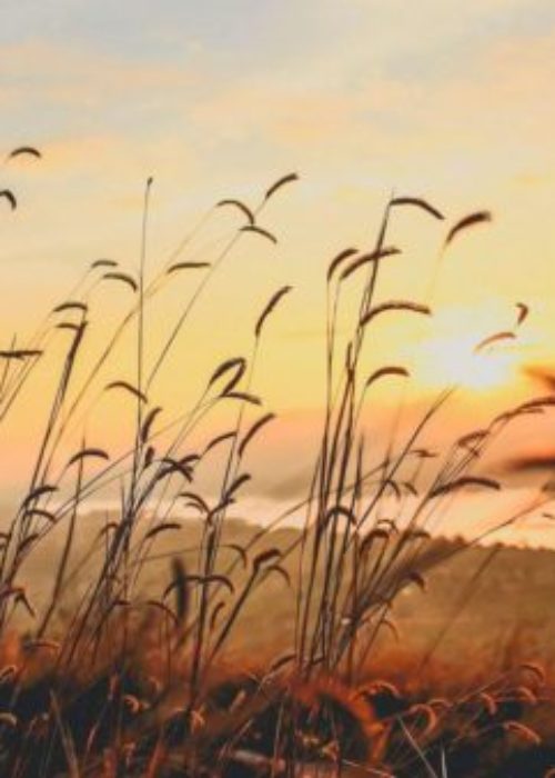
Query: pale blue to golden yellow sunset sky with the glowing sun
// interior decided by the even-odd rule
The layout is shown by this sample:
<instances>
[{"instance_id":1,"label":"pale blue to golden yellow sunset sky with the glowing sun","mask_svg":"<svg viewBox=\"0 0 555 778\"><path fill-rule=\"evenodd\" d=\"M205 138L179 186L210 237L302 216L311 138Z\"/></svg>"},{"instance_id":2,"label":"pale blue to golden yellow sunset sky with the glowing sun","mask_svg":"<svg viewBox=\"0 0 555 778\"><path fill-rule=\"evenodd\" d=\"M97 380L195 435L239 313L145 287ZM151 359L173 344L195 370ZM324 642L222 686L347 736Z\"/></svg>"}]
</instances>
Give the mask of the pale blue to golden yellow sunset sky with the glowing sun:
<instances>
[{"instance_id":1,"label":"pale blue to golden yellow sunset sky with the glowing sun","mask_svg":"<svg viewBox=\"0 0 555 778\"><path fill-rule=\"evenodd\" d=\"M394 191L447 218L395 213L403 258L384 271L384 298L426 300L434 321L384 325L369 370L392 353L411 362L410 419L446 379L465 388L450 432L494 413L536 389L523 366L555 365L554 50L552 0L2 3L0 154L21 143L43 154L0 168L19 201L0 213L4 340L31 332L92 260L137 270L149 176L154 272L215 201L254 206L296 171L262 219L278 246L242 239L200 300L157 387L164 406L185 406L214 363L248 352L269 296L293 286L255 388L282 419L270 447L278 465L264 452L265 468L294 480L291 445L309 461L321 421L326 267L345 246L373 245ZM478 209L493 223L462 237L437 272L447 226ZM210 261L236 226L232 212L212 216L195 256ZM190 283L147 311L150 359ZM476 365L474 345L513 329L518 301L531 313L517 341ZM347 293L345 327L351 303ZM100 338L129 300L107 287L92 305ZM62 348L54 341L54 357ZM119 360L132 370L129 343ZM53 365L39 375L41 397ZM400 397L392 389L379 408ZM8 428L14 468L30 449L26 420L40 429L34 396L32 407L16 409ZM114 445L120 413L107 410L102 432Z\"/></svg>"}]
</instances>

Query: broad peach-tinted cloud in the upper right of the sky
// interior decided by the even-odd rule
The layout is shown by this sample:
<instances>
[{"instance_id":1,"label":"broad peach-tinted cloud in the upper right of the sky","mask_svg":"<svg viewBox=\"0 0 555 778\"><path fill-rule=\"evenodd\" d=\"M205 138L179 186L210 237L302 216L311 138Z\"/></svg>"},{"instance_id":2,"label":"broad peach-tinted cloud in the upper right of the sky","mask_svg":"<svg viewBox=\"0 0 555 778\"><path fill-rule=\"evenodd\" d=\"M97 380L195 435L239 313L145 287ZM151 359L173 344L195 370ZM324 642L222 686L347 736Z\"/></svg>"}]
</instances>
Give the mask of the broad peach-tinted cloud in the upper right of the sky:
<instances>
[{"instance_id":1,"label":"broad peach-tinted cloud in the upper right of the sky","mask_svg":"<svg viewBox=\"0 0 555 778\"><path fill-rule=\"evenodd\" d=\"M554 44L553 31L493 36L475 58L455 54L457 67L444 73L436 67L433 77L392 73L371 46L361 52L332 44L332 53L311 52L297 72L289 72L285 57L281 68L212 83L191 116L204 131L218 128L222 141L263 141L313 157L325 149L332 162L360 153L414 160L433 147L440 164L445 151L456 162L456 148L477 154L480 163L490 154L497 164L501 153L511 163L548 142ZM511 134L503 131L507 124Z\"/></svg>"}]
</instances>

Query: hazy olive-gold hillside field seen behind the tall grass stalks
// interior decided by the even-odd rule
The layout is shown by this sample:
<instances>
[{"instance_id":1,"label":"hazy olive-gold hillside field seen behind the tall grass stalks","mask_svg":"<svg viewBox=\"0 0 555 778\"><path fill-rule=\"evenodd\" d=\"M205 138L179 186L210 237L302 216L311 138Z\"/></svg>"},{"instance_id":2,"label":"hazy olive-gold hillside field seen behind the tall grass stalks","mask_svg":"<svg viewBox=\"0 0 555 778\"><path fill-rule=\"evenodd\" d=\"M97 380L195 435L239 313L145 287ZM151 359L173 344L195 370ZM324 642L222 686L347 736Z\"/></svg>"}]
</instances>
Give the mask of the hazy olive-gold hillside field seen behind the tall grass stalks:
<instances>
[{"instance_id":1,"label":"hazy olive-gold hillside field seen behind the tall grass stalks","mask_svg":"<svg viewBox=\"0 0 555 778\"><path fill-rule=\"evenodd\" d=\"M101 526L102 521L100 513L83 517L88 527ZM161 559L152 561L139 584L143 599L157 596L165 586L169 560L176 548L190 549L183 555L185 559L196 555L202 527L193 520L181 523L171 540L161 538L157 545L155 556ZM222 543L248 547L259 536L260 527L229 518ZM259 540L263 548L284 552L293 549L282 562L292 580L299 569L300 538L299 530L283 528ZM433 654L435 660L448 664L472 652L483 657L483 662L491 662L492 669L503 664L504 647L508 656L517 651L523 654L523 659L524 655L545 662L554 658L555 620L547 594L555 591L555 551L502 545L465 548L463 540L443 539L425 541L423 550L426 545L441 548L447 558L427 573L425 590L408 587L395 601L392 619L398 639L389 635L384 650L390 651L396 645L396 650L405 652L407 658L424 661L438 641ZM462 553L461 548L464 548ZM52 548L46 545L38 550L29 570L30 596L39 608L43 607L49 590L52 556ZM245 573L236 562L236 552L223 548L218 572L223 573L235 565L234 580L243 580ZM77 586L84 588L84 581L78 581ZM75 590L68 592L67 609L71 610L74 597ZM229 645L230 655L241 657L242 661L250 658L256 661L269 646L274 656L284 652L293 634L294 605L294 587L283 578L269 578L246 604ZM259 624L264 628L258 629Z\"/></svg>"}]
</instances>

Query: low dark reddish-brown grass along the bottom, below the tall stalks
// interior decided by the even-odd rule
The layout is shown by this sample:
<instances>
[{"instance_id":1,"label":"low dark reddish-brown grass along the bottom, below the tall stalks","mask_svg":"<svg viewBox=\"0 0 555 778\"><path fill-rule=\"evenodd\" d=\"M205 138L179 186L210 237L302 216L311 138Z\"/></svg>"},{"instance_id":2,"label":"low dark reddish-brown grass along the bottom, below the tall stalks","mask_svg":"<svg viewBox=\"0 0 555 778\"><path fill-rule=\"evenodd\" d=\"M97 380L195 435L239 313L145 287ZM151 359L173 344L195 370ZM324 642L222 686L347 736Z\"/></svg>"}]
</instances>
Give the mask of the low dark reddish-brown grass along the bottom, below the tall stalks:
<instances>
[{"instance_id":1,"label":"low dark reddish-brown grass along the bottom, below the tall stalks","mask_svg":"<svg viewBox=\"0 0 555 778\"><path fill-rule=\"evenodd\" d=\"M344 775L404 777L442 775L448 755L448 775L502 776L518 764L543 775L552 764L555 746L539 748L531 726L545 695L537 665L451 696L456 666L407 691L380 677L380 665L350 687L337 676L303 681L283 657L263 669L220 667L190 710L190 668L176 662L168 686L164 658L149 650L152 628L133 632L137 651L110 651L73 676L44 659L56 647L12 645L18 661L2 669L6 775L287 775L292 764L306 775L343 765Z\"/></svg>"}]
</instances>

